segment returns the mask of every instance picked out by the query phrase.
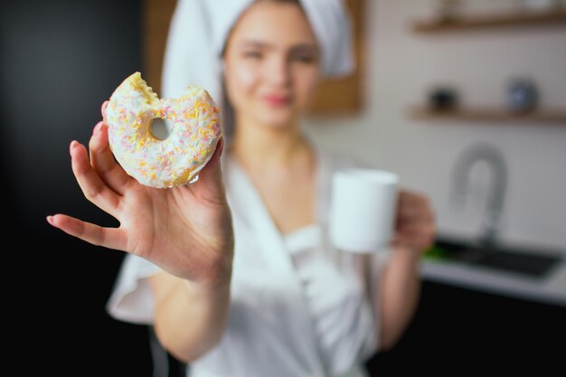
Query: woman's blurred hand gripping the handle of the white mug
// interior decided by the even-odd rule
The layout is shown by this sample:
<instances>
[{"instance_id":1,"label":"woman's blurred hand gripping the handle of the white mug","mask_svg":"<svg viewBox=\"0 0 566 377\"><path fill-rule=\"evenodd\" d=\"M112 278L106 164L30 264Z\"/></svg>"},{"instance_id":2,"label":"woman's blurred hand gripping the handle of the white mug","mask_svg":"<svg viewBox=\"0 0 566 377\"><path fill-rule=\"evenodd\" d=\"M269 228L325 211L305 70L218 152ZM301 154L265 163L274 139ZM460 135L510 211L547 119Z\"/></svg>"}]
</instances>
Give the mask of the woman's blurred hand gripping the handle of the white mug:
<instances>
[{"instance_id":1,"label":"woman's blurred hand gripping the handle of the white mug","mask_svg":"<svg viewBox=\"0 0 566 377\"><path fill-rule=\"evenodd\" d=\"M401 190L397 202L393 246L423 252L432 245L435 238L434 213L427 197Z\"/></svg>"}]
</instances>

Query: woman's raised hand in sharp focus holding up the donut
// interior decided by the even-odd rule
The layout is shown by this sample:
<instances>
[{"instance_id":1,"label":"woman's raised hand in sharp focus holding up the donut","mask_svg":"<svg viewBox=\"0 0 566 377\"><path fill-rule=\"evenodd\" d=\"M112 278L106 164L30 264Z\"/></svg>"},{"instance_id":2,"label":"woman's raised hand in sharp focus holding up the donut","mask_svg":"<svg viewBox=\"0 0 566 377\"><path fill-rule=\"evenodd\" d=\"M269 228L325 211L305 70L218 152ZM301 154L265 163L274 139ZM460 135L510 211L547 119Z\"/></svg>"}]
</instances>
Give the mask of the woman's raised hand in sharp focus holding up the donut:
<instances>
[{"instance_id":1,"label":"woman's raised hand in sharp focus holding up the donut","mask_svg":"<svg viewBox=\"0 0 566 377\"><path fill-rule=\"evenodd\" d=\"M197 182L156 189L139 184L118 165L108 146L108 126L100 121L90 137L90 156L85 146L71 143L71 166L85 197L114 216L119 227L103 228L65 214L47 221L81 240L150 260L179 278L219 283L230 278L233 256L222 147L221 139Z\"/></svg>"}]
</instances>

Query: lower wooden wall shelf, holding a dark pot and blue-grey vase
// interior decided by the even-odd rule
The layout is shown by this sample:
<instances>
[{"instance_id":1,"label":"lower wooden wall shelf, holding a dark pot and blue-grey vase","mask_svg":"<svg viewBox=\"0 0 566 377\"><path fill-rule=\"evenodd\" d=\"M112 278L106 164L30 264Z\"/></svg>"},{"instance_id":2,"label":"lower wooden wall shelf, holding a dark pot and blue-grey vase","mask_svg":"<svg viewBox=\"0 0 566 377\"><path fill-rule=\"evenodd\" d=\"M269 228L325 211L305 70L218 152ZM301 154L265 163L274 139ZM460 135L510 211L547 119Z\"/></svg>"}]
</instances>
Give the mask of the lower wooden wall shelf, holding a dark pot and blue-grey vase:
<instances>
[{"instance_id":1,"label":"lower wooden wall shelf, holding a dark pot and blue-grey vase","mask_svg":"<svg viewBox=\"0 0 566 377\"><path fill-rule=\"evenodd\" d=\"M497 108L460 108L454 110L435 110L426 107L410 109L410 117L420 120L462 120L478 122L507 123L554 123L566 126L566 109L541 109L528 113L514 113Z\"/></svg>"}]
</instances>

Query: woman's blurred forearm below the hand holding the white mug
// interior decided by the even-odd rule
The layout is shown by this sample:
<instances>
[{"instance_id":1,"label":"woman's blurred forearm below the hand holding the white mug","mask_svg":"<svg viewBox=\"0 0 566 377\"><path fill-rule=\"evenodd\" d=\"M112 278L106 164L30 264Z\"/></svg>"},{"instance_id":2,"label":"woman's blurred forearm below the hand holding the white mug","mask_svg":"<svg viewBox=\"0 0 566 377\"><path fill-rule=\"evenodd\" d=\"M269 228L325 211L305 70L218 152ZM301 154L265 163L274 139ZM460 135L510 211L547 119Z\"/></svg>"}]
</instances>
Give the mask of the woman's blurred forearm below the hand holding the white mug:
<instances>
[{"instance_id":1,"label":"woman's blurred forearm below the hand holding the white mug","mask_svg":"<svg viewBox=\"0 0 566 377\"><path fill-rule=\"evenodd\" d=\"M381 285L381 348L391 349L415 314L420 297L420 253L398 247L383 270Z\"/></svg>"}]
</instances>

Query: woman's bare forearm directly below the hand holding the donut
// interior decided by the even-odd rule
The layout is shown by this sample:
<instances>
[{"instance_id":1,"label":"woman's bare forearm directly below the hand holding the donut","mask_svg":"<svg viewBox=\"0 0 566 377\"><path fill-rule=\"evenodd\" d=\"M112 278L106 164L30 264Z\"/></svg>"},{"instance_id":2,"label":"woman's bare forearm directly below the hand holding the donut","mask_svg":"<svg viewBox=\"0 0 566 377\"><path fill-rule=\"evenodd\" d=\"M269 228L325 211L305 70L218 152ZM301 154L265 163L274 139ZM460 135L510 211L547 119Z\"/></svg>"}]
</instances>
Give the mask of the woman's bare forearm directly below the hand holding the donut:
<instances>
[{"instance_id":1,"label":"woman's bare forearm directly below the hand holding the donut","mask_svg":"<svg viewBox=\"0 0 566 377\"><path fill-rule=\"evenodd\" d=\"M171 275L152 278L156 297L156 335L165 349L184 363L217 344L230 308L230 277L213 286Z\"/></svg>"}]
</instances>

